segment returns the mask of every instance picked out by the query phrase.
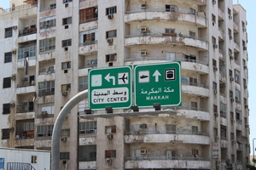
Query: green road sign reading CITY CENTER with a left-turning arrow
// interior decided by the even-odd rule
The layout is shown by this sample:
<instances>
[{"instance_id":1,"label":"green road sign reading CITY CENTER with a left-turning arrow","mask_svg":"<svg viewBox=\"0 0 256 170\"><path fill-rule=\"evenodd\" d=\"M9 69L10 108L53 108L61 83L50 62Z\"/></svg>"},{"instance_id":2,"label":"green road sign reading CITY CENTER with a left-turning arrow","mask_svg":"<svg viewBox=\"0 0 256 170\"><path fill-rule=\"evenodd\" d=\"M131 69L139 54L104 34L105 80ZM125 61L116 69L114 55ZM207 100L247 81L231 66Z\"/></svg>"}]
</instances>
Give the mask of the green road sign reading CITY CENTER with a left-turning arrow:
<instances>
[{"instance_id":1,"label":"green road sign reading CITY CENTER with a left-turning arrow","mask_svg":"<svg viewBox=\"0 0 256 170\"><path fill-rule=\"evenodd\" d=\"M131 66L89 71L89 106L92 111L131 107Z\"/></svg>"}]
</instances>

